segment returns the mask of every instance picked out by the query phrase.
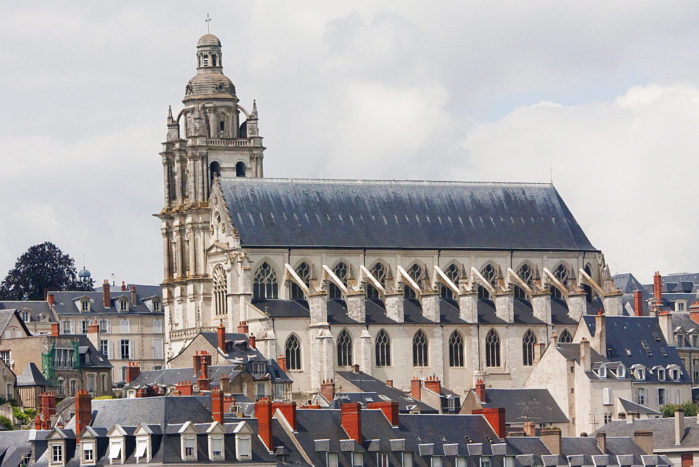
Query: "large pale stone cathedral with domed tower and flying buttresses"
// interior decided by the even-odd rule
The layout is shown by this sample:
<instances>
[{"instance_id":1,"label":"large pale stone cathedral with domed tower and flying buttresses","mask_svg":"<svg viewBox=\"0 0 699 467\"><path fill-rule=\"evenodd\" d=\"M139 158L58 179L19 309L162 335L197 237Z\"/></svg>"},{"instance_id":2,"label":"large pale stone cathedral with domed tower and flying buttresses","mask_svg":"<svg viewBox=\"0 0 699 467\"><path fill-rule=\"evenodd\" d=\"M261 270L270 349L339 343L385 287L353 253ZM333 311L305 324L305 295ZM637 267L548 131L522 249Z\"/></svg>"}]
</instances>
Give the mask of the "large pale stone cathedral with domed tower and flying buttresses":
<instances>
[{"instance_id":1,"label":"large pale stone cathedral with domed tower and flying buttresses","mask_svg":"<svg viewBox=\"0 0 699 467\"><path fill-rule=\"evenodd\" d=\"M359 365L401 389L521 387L583 315L623 314L551 184L264 178L257 107L196 45L161 158L166 352L245 322L294 391Z\"/></svg>"}]
</instances>

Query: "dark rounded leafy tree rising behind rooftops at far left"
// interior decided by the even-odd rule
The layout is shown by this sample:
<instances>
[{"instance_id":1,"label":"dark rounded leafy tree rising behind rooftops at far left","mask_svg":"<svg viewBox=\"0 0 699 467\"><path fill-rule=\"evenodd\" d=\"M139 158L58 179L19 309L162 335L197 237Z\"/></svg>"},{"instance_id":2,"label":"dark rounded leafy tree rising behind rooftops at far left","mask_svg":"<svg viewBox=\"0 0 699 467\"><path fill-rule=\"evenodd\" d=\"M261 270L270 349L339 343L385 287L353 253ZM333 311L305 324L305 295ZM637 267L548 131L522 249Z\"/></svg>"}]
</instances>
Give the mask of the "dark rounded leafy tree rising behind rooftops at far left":
<instances>
[{"instance_id":1,"label":"dark rounded leafy tree rising behind rooftops at far left","mask_svg":"<svg viewBox=\"0 0 699 467\"><path fill-rule=\"evenodd\" d=\"M89 292L94 280L78 280L75 261L50 242L29 247L0 282L0 299L43 300L49 290Z\"/></svg>"}]
</instances>

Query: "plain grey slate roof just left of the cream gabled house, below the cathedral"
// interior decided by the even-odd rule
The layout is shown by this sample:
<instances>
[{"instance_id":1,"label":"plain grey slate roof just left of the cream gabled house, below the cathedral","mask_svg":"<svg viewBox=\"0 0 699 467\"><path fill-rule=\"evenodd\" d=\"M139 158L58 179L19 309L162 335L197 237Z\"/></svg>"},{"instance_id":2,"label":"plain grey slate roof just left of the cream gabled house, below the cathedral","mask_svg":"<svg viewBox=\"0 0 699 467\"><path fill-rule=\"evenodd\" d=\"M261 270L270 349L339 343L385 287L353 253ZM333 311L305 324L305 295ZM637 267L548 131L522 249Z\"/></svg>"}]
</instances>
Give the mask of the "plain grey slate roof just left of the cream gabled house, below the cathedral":
<instances>
[{"instance_id":1,"label":"plain grey slate roof just left of the cream gabled house, below the cathedral","mask_svg":"<svg viewBox=\"0 0 699 467\"><path fill-rule=\"evenodd\" d=\"M505 408L507 423L568 423L559 405L548 389L493 389L485 390L484 408Z\"/></svg>"}]
</instances>

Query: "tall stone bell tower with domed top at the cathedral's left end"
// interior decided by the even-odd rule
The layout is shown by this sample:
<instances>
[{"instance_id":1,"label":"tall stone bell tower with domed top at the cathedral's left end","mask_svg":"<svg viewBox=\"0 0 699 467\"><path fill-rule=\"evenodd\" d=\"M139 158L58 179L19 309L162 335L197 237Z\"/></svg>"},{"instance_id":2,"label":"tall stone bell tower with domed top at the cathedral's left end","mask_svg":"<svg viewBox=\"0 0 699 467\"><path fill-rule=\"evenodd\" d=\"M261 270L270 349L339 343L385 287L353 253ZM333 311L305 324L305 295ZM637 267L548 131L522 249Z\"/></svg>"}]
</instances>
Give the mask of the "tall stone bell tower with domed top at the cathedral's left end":
<instances>
[{"instance_id":1,"label":"tall stone bell tower with domed top at the cathedral's left end","mask_svg":"<svg viewBox=\"0 0 699 467\"><path fill-rule=\"evenodd\" d=\"M223 74L221 41L206 34L196 43L196 76L187 82L184 108L168 110L163 162L162 221L168 357L211 322L209 196L214 177L262 177L262 138L257 106L240 106L236 87ZM178 347L173 348L173 337Z\"/></svg>"}]
</instances>

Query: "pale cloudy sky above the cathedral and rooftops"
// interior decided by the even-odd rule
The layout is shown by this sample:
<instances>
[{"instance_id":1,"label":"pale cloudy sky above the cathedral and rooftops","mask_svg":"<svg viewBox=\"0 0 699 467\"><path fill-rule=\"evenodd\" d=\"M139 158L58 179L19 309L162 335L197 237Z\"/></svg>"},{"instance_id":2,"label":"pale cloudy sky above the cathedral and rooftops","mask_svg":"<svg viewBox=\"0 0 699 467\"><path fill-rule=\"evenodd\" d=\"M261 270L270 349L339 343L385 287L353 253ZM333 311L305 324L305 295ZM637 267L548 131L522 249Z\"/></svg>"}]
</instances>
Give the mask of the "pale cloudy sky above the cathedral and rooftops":
<instances>
[{"instance_id":1,"label":"pale cloudy sky above the cathedral and rooftops","mask_svg":"<svg viewBox=\"0 0 699 467\"><path fill-rule=\"evenodd\" d=\"M26 1L0 6L0 277L52 241L161 282L207 13L266 176L553 180L612 273L699 271L696 1Z\"/></svg>"}]
</instances>

